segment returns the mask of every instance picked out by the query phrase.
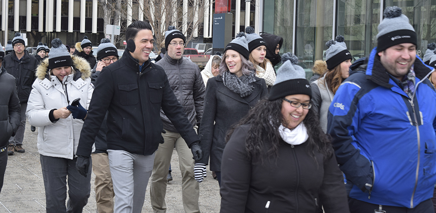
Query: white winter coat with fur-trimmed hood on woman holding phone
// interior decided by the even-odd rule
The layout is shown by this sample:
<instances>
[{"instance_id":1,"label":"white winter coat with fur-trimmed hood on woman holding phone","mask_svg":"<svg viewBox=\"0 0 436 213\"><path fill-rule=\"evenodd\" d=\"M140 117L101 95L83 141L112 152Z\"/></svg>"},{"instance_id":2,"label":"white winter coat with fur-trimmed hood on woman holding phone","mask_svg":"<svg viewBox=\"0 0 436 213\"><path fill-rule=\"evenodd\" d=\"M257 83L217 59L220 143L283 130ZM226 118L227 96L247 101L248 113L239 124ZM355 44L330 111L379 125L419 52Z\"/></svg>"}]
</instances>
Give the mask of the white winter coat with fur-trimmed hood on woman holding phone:
<instances>
[{"instance_id":1,"label":"white winter coat with fur-trimmed hood on woman holding phone","mask_svg":"<svg viewBox=\"0 0 436 213\"><path fill-rule=\"evenodd\" d=\"M48 59L36 69L26 115L29 123L38 127L38 151L43 156L73 159L79 144L83 120L73 119L72 115L55 123L49 119L50 110L68 106L76 98L86 109L91 101L91 67L79 56L71 58L74 71L63 82L49 75Z\"/></svg>"}]
</instances>

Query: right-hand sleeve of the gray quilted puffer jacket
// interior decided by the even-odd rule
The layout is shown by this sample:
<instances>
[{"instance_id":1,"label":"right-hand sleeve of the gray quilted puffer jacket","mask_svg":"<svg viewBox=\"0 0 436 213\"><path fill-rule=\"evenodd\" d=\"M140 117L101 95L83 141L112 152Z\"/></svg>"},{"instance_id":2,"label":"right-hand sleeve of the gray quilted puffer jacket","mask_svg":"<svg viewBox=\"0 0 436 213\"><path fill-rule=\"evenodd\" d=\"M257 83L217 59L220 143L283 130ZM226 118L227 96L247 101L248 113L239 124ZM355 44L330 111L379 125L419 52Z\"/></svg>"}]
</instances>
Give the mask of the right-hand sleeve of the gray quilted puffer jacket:
<instances>
[{"instance_id":1,"label":"right-hand sleeve of the gray quilted puffer jacket","mask_svg":"<svg viewBox=\"0 0 436 213\"><path fill-rule=\"evenodd\" d=\"M195 112L197 113L196 114L197 124L201 122L201 117L203 116L205 91L206 91L206 87L204 86L200 69L198 66L196 66L193 98L194 98Z\"/></svg>"}]
</instances>

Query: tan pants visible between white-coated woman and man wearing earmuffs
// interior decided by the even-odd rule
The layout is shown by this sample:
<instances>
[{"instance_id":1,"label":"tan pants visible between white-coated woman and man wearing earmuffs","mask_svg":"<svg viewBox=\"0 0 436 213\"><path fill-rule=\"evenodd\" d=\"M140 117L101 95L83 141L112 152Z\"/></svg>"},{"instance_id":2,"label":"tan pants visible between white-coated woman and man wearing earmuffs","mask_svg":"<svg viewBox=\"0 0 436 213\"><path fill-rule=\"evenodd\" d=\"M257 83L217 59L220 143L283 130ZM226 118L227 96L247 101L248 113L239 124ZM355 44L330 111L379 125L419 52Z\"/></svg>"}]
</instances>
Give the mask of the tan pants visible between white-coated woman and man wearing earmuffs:
<instances>
[{"instance_id":1,"label":"tan pants visible between white-coated woman and man wearing earmuffs","mask_svg":"<svg viewBox=\"0 0 436 213\"><path fill-rule=\"evenodd\" d=\"M109 158L106 153L93 153L92 170L96 175L96 203L98 213L113 213L115 195L110 176Z\"/></svg>"}]
</instances>

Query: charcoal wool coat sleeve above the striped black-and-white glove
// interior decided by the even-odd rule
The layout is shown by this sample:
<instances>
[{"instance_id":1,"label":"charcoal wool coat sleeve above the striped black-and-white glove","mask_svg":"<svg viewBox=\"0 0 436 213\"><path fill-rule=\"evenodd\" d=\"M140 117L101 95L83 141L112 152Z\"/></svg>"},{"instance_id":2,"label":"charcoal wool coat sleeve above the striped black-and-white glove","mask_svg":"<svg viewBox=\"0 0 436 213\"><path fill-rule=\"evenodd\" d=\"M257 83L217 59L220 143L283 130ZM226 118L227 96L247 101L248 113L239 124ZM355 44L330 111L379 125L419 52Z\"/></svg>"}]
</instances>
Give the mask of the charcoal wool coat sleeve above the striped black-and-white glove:
<instances>
[{"instance_id":1,"label":"charcoal wool coat sleeve above the striped black-and-white glove","mask_svg":"<svg viewBox=\"0 0 436 213\"><path fill-rule=\"evenodd\" d=\"M217 109L216 90L217 81L215 78L209 79L206 87L206 94L204 95L204 112L201 118L201 125L199 128L199 136L201 140L201 150L203 151L203 159L196 161L196 163L208 164L210 151L212 147L213 126L215 122L215 114Z\"/></svg>"}]
</instances>

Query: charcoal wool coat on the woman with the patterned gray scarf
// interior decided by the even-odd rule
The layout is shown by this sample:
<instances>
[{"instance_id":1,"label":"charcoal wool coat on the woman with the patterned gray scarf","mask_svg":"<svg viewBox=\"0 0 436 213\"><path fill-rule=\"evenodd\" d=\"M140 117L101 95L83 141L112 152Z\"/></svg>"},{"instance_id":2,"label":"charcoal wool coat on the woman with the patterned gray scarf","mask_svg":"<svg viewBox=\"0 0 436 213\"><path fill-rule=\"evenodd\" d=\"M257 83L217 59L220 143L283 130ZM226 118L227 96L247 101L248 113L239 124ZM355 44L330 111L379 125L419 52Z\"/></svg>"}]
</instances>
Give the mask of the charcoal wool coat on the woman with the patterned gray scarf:
<instances>
[{"instance_id":1,"label":"charcoal wool coat on the woman with the patterned gray scarf","mask_svg":"<svg viewBox=\"0 0 436 213\"><path fill-rule=\"evenodd\" d=\"M197 162L207 164L210 156L211 171L221 171L221 157L226 146L224 138L230 127L239 122L259 100L268 96L265 80L255 78L256 81L249 84L254 86L254 90L245 98L227 88L220 75L207 81L199 128L203 158Z\"/></svg>"}]
</instances>

